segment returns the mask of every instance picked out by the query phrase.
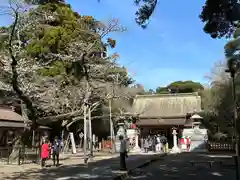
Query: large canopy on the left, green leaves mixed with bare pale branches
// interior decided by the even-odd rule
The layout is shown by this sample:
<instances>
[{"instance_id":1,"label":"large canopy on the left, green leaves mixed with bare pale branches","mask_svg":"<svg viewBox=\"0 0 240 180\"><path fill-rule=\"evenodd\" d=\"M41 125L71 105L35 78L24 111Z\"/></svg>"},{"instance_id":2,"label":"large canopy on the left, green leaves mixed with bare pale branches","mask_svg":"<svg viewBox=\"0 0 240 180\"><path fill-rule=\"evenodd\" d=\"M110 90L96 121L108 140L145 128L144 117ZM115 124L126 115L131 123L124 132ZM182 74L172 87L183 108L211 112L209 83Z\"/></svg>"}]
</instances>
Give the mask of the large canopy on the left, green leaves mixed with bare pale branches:
<instances>
[{"instance_id":1,"label":"large canopy on the left, green leaves mixed with bare pale branches","mask_svg":"<svg viewBox=\"0 0 240 180\"><path fill-rule=\"evenodd\" d=\"M116 46L109 35L126 30L119 20L103 24L63 1L37 3L28 12L12 8L14 23L0 34L1 82L26 104L30 120L82 115L86 101L98 111L116 96L114 89L119 99L134 96L119 55L108 53Z\"/></svg>"}]
</instances>

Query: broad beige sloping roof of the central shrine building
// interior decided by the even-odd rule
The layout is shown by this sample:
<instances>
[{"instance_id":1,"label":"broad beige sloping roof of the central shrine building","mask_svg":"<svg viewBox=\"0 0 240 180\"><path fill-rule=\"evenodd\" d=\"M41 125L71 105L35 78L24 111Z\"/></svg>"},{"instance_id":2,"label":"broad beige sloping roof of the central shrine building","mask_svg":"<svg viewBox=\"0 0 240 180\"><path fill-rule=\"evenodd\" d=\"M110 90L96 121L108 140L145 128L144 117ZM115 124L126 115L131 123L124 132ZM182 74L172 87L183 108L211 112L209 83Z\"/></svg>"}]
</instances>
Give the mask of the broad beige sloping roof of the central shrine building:
<instances>
[{"instance_id":1,"label":"broad beige sloping roof of the central shrine building","mask_svg":"<svg viewBox=\"0 0 240 180\"><path fill-rule=\"evenodd\" d=\"M132 113L140 118L185 117L201 111L201 97L197 93L137 95Z\"/></svg>"}]
</instances>

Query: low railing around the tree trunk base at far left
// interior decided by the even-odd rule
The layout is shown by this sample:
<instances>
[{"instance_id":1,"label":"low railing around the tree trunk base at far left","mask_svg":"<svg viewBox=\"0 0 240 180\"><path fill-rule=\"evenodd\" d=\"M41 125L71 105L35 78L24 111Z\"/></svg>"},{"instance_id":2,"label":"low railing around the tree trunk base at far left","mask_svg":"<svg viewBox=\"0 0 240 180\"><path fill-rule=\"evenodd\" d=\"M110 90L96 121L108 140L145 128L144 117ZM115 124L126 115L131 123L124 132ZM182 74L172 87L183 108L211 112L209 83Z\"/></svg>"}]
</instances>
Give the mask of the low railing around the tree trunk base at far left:
<instances>
[{"instance_id":1,"label":"low railing around the tree trunk base at far left","mask_svg":"<svg viewBox=\"0 0 240 180\"><path fill-rule=\"evenodd\" d=\"M39 147L0 147L0 164L25 164L40 161Z\"/></svg>"}]
</instances>

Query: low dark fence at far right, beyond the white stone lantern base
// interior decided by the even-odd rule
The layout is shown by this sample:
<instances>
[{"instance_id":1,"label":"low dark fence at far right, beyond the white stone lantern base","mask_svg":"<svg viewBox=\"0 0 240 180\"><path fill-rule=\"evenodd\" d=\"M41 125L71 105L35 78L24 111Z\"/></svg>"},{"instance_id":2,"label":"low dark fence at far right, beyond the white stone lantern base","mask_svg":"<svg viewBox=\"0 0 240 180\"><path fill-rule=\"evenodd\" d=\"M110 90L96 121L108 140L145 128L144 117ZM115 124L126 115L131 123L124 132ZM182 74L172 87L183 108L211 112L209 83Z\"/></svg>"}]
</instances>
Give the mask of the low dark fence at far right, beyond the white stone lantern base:
<instances>
[{"instance_id":1,"label":"low dark fence at far right, beyond the white stone lantern base","mask_svg":"<svg viewBox=\"0 0 240 180\"><path fill-rule=\"evenodd\" d=\"M209 141L208 151L210 152L234 152L235 144L231 141Z\"/></svg>"}]
</instances>

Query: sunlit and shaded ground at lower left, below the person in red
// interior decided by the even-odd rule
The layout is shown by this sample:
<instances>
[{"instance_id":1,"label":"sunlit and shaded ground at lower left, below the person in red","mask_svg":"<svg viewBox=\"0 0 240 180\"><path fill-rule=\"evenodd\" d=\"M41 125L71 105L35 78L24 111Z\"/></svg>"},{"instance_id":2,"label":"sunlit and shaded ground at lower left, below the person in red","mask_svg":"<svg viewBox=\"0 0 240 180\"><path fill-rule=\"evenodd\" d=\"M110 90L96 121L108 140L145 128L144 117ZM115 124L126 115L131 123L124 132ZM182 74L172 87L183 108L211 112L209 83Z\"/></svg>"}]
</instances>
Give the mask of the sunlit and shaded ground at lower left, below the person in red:
<instances>
[{"instance_id":1,"label":"sunlit and shaded ground at lower left, below the person in red","mask_svg":"<svg viewBox=\"0 0 240 180\"><path fill-rule=\"evenodd\" d=\"M133 168L145 161L159 157L159 154L130 155L127 160L128 168ZM51 161L47 164L51 164ZM0 166L0 179L8 180L71 180L71 179L113 179L121 174L119 171L119 157L99 156L95 157L88 165L83 164L83 158L73 157L61 161L60 167L41 169L39 165L29 164L22 166Z\"/></svg>"}]
</instances>

